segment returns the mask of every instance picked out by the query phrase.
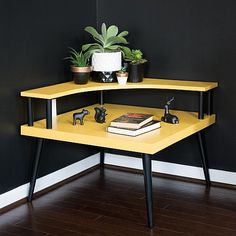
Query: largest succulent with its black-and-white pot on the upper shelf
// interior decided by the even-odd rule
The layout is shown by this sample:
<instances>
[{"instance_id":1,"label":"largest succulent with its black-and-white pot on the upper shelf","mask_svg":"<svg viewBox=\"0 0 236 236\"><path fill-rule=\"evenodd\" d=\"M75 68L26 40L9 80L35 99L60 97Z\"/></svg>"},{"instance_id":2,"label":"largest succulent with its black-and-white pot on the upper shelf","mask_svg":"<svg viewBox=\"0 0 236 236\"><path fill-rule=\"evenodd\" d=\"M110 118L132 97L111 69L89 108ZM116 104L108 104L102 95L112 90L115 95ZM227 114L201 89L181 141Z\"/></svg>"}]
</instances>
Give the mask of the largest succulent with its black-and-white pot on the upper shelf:
<instances>
[{"instance_id":1,"label":"largest succulent with its black-and-white pot on the upper shelf","mask_svg":"<svg viewBox=\"0 0 236 236\"><path fill-rule=\"evenodd\" d=\"M128 44L124 38L128 31L118 33L117 26L111 25L107 28L105 23L101 26L101 33L92 26L87 26L85 31L95 40L95 43L82 46L85 55L92 57L93 78L99 82L112 82L116 78L115 71L121 69L121 44Z\"/></svg>"}]
</instances>

